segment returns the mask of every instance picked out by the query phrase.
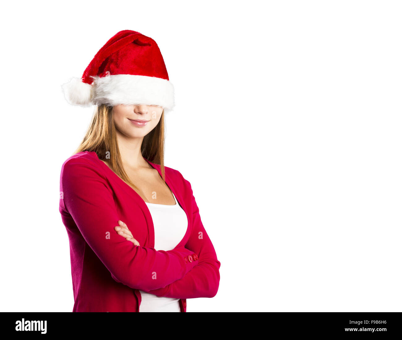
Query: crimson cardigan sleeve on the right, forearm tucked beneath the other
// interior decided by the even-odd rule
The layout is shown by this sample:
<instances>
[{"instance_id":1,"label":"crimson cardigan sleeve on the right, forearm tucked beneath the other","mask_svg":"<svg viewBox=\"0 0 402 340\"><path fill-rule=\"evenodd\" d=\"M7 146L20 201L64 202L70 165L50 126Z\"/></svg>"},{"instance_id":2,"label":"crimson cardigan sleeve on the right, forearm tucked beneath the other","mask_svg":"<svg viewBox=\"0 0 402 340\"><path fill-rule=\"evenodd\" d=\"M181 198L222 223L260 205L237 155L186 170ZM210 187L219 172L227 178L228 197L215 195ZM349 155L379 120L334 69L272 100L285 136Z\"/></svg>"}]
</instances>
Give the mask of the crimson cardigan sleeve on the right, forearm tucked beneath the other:
<instances>
[{"instance_id":1,"label":"crimson cardigan sleeve on the right, forearm tucked beneath the other","mask_svg":"<svg viewBox=\"0 0 402 340\"><path fill-rule=\"evenodd\" d=\"M189 181L185 180L188 185ZM191 188L191 185L190 185ZM148 293L157 296L176 299L191 299L195 297L214 297L219 287L219 268L215 249L201 222L199 208L195 202L193 190L192 210L193 225L191 235L185 247L198 254L198 263L183 278L170 283L164 288L155 289Z\"/></svg>"}]
</instances>

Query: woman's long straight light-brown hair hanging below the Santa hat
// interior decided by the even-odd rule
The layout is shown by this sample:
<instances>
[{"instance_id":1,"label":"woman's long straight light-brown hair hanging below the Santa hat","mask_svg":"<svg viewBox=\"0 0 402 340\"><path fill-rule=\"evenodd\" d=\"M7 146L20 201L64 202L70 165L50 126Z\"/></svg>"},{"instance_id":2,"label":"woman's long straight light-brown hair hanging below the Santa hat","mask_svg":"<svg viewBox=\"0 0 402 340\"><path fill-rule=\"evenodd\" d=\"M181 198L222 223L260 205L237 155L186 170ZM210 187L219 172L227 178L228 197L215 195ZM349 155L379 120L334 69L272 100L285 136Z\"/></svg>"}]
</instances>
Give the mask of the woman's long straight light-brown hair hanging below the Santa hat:
<instances>
[{"instance_id":1,"label":"woman's long straight light-brown hair hanging below the Santa hat","mask_svg":"<svg viewBox=\"0 0 402 340\"><path fill-rule=\"evenodd\" d=\"M148 159L151 163L160 165L162 179L165 181L165 167L163 163L165 147L164 112L163 110L158 125L144 137L141 145L141 153L142 157ZM116 127L113 122L113 106L105 104L96 106L85 137L74 154L81 151L94 151L99 159L106 161L117 176L138 189L130 181L123 167L119 145L117 144Z\"/></svg>"}]
</instances>

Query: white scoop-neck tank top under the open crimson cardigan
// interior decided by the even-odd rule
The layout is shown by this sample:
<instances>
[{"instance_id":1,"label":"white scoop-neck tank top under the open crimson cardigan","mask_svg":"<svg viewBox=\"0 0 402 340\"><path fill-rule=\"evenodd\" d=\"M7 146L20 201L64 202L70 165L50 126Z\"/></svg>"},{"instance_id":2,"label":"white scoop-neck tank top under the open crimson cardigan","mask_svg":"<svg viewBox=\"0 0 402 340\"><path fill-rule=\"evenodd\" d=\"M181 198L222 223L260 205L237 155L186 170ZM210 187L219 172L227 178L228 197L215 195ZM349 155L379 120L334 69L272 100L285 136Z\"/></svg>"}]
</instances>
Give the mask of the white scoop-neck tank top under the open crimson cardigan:
<instances>
[{"instance_id":1,"label":"white scoop-neck tank top under the open crimson cardigan","mask_svg":"<svg viewBox=\"0 0 402 340\"><path fill-rule=\"evenodd\" d=\"M174 206L145 202L154 222L156 250L172 250L180 243L187 231L187 215L174 194L173 197L176 202ZM142 290L139 292L141 293L140 312L180 312L179 299L156 296Z\"/></svg>"}]
</instances>

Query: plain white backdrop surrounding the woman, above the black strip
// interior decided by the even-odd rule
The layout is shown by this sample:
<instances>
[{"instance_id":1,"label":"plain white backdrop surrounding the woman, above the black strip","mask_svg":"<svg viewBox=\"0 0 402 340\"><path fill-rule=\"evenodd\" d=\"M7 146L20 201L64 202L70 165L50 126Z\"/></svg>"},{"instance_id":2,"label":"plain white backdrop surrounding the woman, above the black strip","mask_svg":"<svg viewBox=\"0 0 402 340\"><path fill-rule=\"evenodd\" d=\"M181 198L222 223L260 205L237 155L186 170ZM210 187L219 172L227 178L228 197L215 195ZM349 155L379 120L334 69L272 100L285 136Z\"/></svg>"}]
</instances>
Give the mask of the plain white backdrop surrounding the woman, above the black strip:
<instances>
[{"instance_id":1,"label":"plain white backdrop surrounding the woman, above the black strip","mask_svg":"<svg viewBox=\"0 0 402 340\"><path fill-rule=\"evenodd\" d=\"M62 163L70 106L106 41L159 45L176 106L165 165L193 187L218 260L187 311L401 311L401 3L7 2L1 311L72 311Z\"/></svg>"}]
</instances>

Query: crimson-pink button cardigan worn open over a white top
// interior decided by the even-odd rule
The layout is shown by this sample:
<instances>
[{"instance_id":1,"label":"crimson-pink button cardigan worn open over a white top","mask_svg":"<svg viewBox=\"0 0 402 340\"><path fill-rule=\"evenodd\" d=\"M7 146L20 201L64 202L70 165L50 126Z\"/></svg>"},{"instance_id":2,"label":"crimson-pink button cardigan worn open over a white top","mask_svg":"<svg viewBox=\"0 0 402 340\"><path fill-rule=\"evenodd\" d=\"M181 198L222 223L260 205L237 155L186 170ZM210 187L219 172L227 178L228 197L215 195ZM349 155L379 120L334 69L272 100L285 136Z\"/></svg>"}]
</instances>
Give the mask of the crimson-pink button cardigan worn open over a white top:
<instances>
[{"instance_id":1,"label":"crimson-pink button cardigan worn open over a white top","mask_svg":"<svg viewBox=\"0 0 402 340\"><path fill-rule=\"evenodd\" d=\"M148 163L161 175L159 165ZM154 225L144 200L94 151L63 163L59 212L70 241L73 312L139 311L139 289L180 299L182 312L187 298L216 295L220 262L190 182L169 167L165 174L189 222L183 239L169 251L154 249ZM118 220L141 246L117 234Z\"/></svg>"}]
</instances>

